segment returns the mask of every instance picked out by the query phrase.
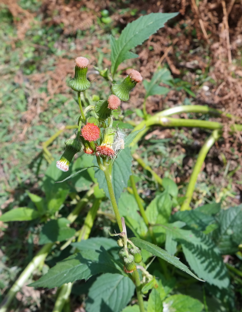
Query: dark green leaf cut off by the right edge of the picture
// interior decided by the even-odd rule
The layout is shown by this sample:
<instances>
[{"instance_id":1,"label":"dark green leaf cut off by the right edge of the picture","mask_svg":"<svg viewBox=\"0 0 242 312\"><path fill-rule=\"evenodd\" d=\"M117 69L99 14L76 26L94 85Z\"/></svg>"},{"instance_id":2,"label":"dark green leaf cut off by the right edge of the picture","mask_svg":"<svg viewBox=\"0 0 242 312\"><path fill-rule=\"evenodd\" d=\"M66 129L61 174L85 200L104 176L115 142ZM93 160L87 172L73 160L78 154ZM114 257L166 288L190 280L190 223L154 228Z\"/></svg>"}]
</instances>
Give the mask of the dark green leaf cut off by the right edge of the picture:
<instances>
[{"instance_id":1,"label":"dark green leaf cut off by the right edge of the picture","mask_svg":"<svg viewBox=\"0 0 242 312\"><path fill-rule=\"evenodd\" d=\"M242 205L221 210L217 222L219 228L213 232L213 238L222 254L233 254L238 251L242 242Z\"/></svg>"}]
</instances>

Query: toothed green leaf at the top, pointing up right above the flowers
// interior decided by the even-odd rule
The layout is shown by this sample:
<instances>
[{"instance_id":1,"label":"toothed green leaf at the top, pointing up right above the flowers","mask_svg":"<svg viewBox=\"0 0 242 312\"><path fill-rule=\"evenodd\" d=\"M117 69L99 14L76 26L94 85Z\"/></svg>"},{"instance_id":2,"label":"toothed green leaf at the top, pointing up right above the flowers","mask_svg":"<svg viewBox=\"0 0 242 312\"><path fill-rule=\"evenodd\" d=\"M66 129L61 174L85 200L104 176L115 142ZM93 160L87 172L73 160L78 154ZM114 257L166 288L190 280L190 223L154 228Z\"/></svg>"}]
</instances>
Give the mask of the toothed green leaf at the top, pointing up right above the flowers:
<instances>
[{"instance_id":1,"label":"toothed green leaf at the top, pointing up right above the flowers","mask_svg":"<svg viewBox=\"0 0 242 312\"><path fill-rule=\"evenodd\" d=\"M123 29L118 40L111 37L111 73L114 76L118 66L130 57L136 57L133 53L127 53L134 47L141 45L152 34L164 26L170 18L178 13L151 13L139 17L136 21L128 23Z\"/></svg>"}]
</instances>

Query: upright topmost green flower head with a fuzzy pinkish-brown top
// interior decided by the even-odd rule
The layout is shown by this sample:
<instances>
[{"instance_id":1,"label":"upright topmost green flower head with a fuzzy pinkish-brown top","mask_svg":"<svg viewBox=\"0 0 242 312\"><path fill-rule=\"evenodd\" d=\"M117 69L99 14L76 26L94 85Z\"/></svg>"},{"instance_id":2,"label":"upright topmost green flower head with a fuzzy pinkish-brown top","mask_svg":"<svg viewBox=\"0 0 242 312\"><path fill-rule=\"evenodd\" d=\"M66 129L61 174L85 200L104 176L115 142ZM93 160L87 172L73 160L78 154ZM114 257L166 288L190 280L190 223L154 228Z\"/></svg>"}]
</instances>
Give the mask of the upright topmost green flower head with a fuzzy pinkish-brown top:
<instances>
[{"instance_id":1,"label":"upright topmost green flower head with a fuzzy pinkish-brown top","mask_svg":"<svg viewBox=\"0 0 242 312\"><path fill-rule=\"evenodd\" d=\"M69 81L71 89L77 92L83 92L90 88L90 81L87 80L87 65L89 60L85 57L77 57L75 59L75 76Z\"/></svg>"}]
</instances>

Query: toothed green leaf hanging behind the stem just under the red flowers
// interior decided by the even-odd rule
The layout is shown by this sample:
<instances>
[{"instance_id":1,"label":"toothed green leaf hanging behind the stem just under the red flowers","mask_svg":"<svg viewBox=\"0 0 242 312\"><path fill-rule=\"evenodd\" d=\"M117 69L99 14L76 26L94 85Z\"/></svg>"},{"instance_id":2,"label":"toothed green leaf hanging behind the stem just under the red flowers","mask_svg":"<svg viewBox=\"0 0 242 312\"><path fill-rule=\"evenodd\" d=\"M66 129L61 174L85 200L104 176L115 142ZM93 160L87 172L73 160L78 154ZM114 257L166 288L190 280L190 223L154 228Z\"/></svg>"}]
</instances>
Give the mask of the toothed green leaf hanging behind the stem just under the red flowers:
<instances>
[{"instance_id":1,"label":"toothed green leaf hanging behind the stem just under the red flowers","mask_svg":"<svg viewBox=\"0 0 242 312\"><path fill-rule=\"evenodd\" d=\"M115 159L112 168L112 184L114 188L114 195L116 201L119 201L119 197L123 192L123 189L128 185L128 179L131 175L131 166L132 166L132 156L130 153L130 148L127 147L119 153L117 159ZM96 163L96 159L94 158L93 163ZM99 168L95 168L95 178L99 183L99 188L103 188L107 197L109 197L109 191L107 182L104 176L104 172ZM109 197L110 198L110 197Z\"/></svg>"}]
</instances>

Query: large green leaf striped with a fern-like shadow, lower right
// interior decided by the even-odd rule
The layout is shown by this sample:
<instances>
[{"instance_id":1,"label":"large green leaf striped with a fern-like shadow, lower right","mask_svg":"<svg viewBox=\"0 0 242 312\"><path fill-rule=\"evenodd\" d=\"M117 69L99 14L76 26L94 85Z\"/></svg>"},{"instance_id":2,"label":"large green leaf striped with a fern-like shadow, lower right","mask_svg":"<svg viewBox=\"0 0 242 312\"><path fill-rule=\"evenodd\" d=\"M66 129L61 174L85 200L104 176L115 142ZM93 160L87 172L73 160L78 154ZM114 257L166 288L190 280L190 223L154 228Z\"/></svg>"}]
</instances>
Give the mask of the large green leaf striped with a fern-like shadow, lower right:
<instances>
[{"instance_id":1,"label":"large green leaf striped with a fern-like shadow, lower right","mask_svg":"<svg viewBox=\"0 0 242 312\"><path fill-rule=\"evenodd\" d=\"M200 278L219 288L230 284L220 251L208 235L195 230L183 230L174 224L165 224L162 227L181 243L186 261Z\"/></svg>"}]
</instances>

